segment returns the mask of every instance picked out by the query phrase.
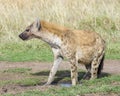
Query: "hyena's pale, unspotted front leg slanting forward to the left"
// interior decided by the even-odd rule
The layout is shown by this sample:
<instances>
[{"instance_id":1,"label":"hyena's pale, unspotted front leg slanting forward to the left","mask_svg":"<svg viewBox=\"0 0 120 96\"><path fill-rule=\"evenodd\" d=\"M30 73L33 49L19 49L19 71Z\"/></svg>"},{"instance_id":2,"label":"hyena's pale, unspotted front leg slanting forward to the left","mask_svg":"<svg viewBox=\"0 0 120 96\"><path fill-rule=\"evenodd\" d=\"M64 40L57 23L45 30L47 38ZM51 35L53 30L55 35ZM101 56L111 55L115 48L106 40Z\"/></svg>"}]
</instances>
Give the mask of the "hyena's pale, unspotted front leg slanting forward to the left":
<instances>
[{"instance_id":1,"label":"hyena's pale, unspotted front leg slanting forward to the left","mask_svg":"<svg viewBox=\"0 0 120 96\"><path fill-rule=\"evenodd\" d=\"M50 71L48 81L45 85L49 85L52 83L52 81L54 80L54 76L58 70L59 64L63 60L63 57L60 55L59 49L53 48L52 50L53 50L53 54L54 54L54 63L53 63L52 69Z\"/></svg>"}]
</instances>

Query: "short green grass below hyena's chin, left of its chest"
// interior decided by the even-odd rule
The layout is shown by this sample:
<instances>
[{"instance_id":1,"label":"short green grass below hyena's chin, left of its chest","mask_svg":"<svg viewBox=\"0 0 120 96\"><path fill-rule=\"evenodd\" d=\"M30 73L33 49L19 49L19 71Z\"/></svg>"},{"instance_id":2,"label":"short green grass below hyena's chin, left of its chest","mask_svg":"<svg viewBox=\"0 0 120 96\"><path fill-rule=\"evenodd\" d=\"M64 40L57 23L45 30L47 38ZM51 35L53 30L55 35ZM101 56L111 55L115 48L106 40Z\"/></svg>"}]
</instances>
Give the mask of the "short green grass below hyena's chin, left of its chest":
<instances>
[{"instance_id":1,"label":"short green grass below hyena's chin, left of its chest","mask_svg":"<svg viewBox=\"0 0 120 96\"><path fill-rule=\"evenodd\" d=\"M12 43L0 47L0 61L52 61L52 52L47 45L26 43Z\"/></svg>"}]
</instances>

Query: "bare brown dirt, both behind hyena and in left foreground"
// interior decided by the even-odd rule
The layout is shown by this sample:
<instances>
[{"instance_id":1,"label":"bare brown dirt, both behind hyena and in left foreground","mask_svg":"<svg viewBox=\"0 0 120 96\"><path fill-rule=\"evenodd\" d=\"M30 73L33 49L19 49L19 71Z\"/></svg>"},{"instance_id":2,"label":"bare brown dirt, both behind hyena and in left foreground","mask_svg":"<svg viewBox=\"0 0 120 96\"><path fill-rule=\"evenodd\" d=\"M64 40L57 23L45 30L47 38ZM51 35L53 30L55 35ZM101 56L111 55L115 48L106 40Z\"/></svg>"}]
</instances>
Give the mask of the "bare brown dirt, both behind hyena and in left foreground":
<instances>
[{"instance_id":1,"label":"bare brown dirt, both behind hyena and in left foreground","mask_svg":"<svg viewBox=\"0 0 120 96\"><path fill-rule=\"evenodd\" d=\"M52 62L0 62L0 71L4 71L10 68L32 68L32 72L40 72L44 70L50 70L52 67ZM85 70L83 65L79 65L79 68L82 70ZM69 70L70 65L68 62L64 61L61 63L59 70ZM120 74L120 60L105 60L104 69L102 71L103 73L107 74L113 74L113 75L119 75ZM1 75L1 74L0 74ZM4 74L4 76L0 76L0 80L12 80L15 78L22 78L21 75L8 75ZM51 86L29 86L29 87L22 87L19 85L8 85L4 87L0 87L0 94L3 93L12 93L16 94L19 92L23 92L26 90L32 90L32 89L38 89L38 90L46 90L49 89ZM58 86L54 86L58 87ZM88 95L85 95L88 96ZM91 96L91 95L90 95ZM102 96L102 95L92 95L92 96ZM117 95L103 95L103 96L117 96Z\"/></svg>"}]
</instances>

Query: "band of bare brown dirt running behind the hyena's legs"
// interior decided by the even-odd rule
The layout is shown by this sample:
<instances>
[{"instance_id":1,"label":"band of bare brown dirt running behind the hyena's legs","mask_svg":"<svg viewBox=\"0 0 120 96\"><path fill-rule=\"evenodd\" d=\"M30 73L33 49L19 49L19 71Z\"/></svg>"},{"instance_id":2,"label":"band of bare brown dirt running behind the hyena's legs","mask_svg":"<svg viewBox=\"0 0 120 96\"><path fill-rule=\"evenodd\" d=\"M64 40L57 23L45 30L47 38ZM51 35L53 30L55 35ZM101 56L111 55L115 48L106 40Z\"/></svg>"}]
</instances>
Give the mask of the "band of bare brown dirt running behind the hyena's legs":
<instances>
[{"instance_id":1,"label":"band of bare brown dirt running behind the hyena's legs","mask_svg":"<svg viewBox=\"0 0 120 96\"><path fill-rule=\"evenodd\" d=\"M0 62L0 70L10 68L32 68L33 72L50 70L52 62ZM79 65L80 69L85 70L83 65ZM62 62L59 70L69 70L70 64ZM108 74L120 74L120 60L105 60L103 72Z\"/></svg>"}]
</instances>

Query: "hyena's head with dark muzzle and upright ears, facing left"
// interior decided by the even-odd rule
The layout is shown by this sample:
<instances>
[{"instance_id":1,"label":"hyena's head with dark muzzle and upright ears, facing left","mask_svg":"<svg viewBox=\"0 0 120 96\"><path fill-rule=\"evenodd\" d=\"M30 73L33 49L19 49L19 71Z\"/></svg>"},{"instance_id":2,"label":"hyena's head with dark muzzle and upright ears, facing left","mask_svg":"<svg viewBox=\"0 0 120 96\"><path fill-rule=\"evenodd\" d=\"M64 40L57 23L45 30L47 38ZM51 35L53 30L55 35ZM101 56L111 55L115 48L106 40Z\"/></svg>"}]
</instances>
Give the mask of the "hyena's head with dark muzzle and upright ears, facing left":
<instances>
[{"instance_id":1,"label":"hyena's head with dark muzzle and upright ears, facing left","mask_svg":"<svg viewBox=\"0 0 120 96\"><path fill-rule=\"evenodd\" d=\"M22 32L19 37L22 40L29 40L36 37L36 33L41 30L40 20L36 20L31 25L29 25L24 32Z\"/></svg>"}]
</instances>

